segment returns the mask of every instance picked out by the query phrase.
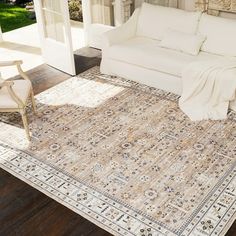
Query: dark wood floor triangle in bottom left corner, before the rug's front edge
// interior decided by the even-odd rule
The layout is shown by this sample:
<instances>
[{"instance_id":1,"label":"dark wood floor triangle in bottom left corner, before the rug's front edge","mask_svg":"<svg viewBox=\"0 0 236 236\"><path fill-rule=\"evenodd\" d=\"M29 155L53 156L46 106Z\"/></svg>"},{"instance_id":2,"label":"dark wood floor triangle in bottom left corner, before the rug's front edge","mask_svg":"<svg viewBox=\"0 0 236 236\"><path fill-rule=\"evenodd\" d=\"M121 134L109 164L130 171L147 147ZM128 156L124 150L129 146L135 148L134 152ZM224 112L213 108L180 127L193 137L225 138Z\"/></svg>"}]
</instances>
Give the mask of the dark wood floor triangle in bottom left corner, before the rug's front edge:
<instances>
[{"instance_id":1,"label":"dark wood floor triangle in bottom left corner, before the rug's front edge","mask_svg":"<svg viewBox=\"0 0 236 236\"><path fill-rule=\"evenodd\" d=\"M108 236L103 229L0 170L1 236Z\"/></svg>"}]
</instances>

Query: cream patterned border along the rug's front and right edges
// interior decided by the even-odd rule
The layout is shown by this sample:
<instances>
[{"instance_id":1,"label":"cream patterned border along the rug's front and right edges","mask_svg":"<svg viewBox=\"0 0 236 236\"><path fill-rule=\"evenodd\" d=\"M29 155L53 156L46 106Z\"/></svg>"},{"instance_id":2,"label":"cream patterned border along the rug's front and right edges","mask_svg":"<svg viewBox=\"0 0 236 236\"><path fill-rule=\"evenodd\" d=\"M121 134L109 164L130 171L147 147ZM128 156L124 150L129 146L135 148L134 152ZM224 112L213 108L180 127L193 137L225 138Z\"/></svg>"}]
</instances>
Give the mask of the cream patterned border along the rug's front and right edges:
<instances>
[{"instance_id":1,"label":"cream patterned border along the rug's front and right edges","mask_svg":"<svg viewBox=\"0 0 236 236\"><path fill-rule=\"evenodd\" d=\"M3 154L6 154L6 152L9 153L9 155L7 155L9 158L7 158L7 160L3 159L2 157ZM142 215L137 214L135 211L132 211L132 209L126 208L126 206L123 206L122 204L119 204L114 200L110 199L108 201L107 197L101 194L100 192L97 192L94 189L90 189L88 186L85 186L78 180L68 177L64 173L59 172L52 166L49 166L42 161L39 161L38 159L28 155L27 153L23 153L22 151L9 147L4 143L0 143L0 154L1 154L0 166L2 169L13 174L17 178L28 183L32 187L43 192L47 196L53 198L57 202L65 205L69 209L82 215L86 219L90 220L91 222L97 224L98 226L102 227L103 229L109 231L114 235L139 235L140 232L142 232L143 230L147 231L147 229L148 231L146 233L151 232L152 235L159 235L159 236L192 235L194 233L199 232L199 227L201 227L202 221L215 220L209 218L207 214L209 213L209 208L213 208L216 205L222 206L222 203L219 197L217 197L217 194L213 194L212 197L208 199L208 202L205 203L203 209L199 211L198 214L196 214L191 221L187 222L187 227L174 233L173 231L167 230L165 227L161 227L157 223L153 223L145 219ZM23 163L23 165L21 166L20 163ZM19 166L21 169L19 168ZM34 166L34 170L30 172L27 171L27 169L29 169L29 166ZM44 173L44 176L46 176L46 178L44 180L39 179L38 177L36 177L38 176L38 173ZM53 178L55 178L54 181L52 181ZM61 188L61 187L55 188L54 184L58 180L60 183L62 183L61 187L65 185L67 186L67 188ZM226 194L231 197L233 196L234 200L230 202L230 204L228 204L227 206L224 204L225 207L224 210L225 212L227 212L227 214L224 214L224 217L218 219L216 227L212 228L208 235L223 235L230 227L229 222L232 221L231 219L235 218L236 196L232 195L232 193L227 190L227 188L230 188L230 185L235 183L235 181L236 181L236 167L233 168L232 174L230 174L227 178L225 178L224 181L221 182L219 188L217 189L217 191L222 192L222 194ZM72 186L74 188L74 191L72 191L73 189L71 188ZM68 188L70 188L72 196L66 194L66 190ZM74 192L87 193L87 196L90 194L90 197L87 197L85 201L81 202L73 198ZM94 203L95 204L92 205L91 207L90 201L92 201L92 199L94 200L95 198L97 200L93 202L93 204ZM212 202L214 202L214 204L212 204ZM99 210L97 212L92 212L92 209L99 209ZM116 221L116 224L112 223L111 220L105 216L106 212L109 210L113 212L118 211L119 212L118 218L120 219L122 218L125 219L127 217L129 220L132 219L133 221L135 221L136 226L138 221L139 226L132 229L132 227L130 227L130 225L132 225L131 223L132 220L130 220L129 223L127 221L126 222L123 221L120 224L119 220ZM198 221L197 224L196 221Z\"/></svg>"}]
</instances>

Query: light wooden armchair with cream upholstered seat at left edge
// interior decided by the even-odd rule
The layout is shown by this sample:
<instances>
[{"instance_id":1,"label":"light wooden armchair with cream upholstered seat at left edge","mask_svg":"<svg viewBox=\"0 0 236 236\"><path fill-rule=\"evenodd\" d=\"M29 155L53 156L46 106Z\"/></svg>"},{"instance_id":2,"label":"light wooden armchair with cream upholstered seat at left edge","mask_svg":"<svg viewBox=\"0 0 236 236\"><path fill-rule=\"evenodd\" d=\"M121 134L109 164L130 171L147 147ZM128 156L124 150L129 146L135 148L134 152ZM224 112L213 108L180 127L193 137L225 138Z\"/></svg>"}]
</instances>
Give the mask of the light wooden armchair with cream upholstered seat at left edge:
<instances>
[{"instance_id":1,"label":"light wooden armchair with cream upholstered seat at left edge","mask_svg":"<svg viewBox=\"0 0 236 236\"><path fill-rule=\"evenodd\" d=\"M0 61L2 66L16 66L23 80L4 81L0 78L0 112L19 112L22 117L27 139L30 140L30 132L26 115L26 106L29 98L32 101L34 113L36 105L30 79L21 68L22 61Z\"/></svg>"}]
</instances>

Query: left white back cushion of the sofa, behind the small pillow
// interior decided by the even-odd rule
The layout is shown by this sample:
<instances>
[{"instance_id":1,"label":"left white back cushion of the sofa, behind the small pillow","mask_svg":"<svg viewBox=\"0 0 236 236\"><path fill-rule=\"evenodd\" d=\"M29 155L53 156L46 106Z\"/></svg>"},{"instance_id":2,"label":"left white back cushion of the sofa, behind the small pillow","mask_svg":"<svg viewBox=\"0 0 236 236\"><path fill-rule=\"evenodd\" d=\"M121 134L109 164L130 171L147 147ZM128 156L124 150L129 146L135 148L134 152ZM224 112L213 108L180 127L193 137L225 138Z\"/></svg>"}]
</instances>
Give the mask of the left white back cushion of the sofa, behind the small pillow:
<instances>
[{"instance_id":1,"label":"left white back cushion of the sofa, behind the small pillow","mask_svg":"<svg viewBox=\"0 0 236 236\"><path fill-rule=\"evenodd\" d=\"M201 13L143 3L137 23L137 36L162 40L166 31L174 29L195 34Z\"/></svg>"}]
</instances>

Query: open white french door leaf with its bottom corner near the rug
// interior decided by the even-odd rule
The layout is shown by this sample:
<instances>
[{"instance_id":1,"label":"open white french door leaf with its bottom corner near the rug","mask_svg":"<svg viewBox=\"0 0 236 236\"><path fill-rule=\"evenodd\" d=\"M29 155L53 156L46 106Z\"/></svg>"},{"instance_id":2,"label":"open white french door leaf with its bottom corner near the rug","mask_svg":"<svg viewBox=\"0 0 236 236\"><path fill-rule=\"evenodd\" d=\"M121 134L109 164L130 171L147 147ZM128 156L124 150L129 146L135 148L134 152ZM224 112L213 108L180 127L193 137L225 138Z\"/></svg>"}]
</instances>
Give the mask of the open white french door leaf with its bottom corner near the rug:
<instances>
[{"instance_id":1,"label":"open white french door leaf with its bottom corner near the rug","mask_svg":"<svg viewBox=\"0 0 236 236\"><path fill-rule=\"evenodd\" d=\"M45 63L75 75L67 0L35 0L42 55Z\"/></svg>"}]
</instances>

